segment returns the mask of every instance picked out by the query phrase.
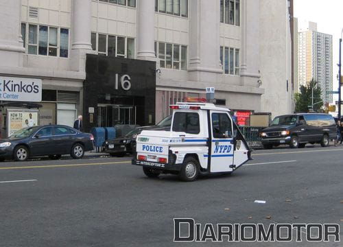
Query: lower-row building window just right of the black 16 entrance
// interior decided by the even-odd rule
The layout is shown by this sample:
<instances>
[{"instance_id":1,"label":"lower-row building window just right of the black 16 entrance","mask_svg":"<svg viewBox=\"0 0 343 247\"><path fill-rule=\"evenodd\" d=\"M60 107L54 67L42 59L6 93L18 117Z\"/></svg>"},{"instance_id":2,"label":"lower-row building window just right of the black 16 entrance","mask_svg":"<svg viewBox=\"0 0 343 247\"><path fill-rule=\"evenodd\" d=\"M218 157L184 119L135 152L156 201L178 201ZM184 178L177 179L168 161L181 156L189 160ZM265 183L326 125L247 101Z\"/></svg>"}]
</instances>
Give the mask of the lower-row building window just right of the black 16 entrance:
<instances>
[{"instance_id":1,"label":"lower-row building window just right of the black 16 entrance","mask_svg":"<svg viewBox=\"0 0 343 247\"><path fill-rule=\"evenodd\" d=\"M161 68L187 70L187 46L155 42L155 54Z\"/></svg>"}]
</instances>

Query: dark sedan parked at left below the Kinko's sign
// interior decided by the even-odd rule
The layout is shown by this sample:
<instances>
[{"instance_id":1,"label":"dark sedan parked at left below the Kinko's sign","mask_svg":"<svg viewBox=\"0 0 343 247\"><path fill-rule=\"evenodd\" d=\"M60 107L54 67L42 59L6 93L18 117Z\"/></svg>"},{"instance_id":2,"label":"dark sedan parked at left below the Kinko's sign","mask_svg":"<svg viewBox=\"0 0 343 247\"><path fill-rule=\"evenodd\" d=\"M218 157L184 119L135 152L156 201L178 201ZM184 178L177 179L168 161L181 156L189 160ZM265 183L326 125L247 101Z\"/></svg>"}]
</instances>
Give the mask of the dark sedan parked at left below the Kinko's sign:
<instances>
[{"instance_id":1,"label":"dark sedan parked at left below the Kinko's sign","mask_svg":"<svg viewBox=\"0 0 343 247\"><path fill-rule=\"evenodd\" d=\"M82 158L93 150L93 135L68 126L49 125L23 128L0 142L0 160L27 161L34 156L58 159L62 154Z\"/></svg>"}]
</instances>

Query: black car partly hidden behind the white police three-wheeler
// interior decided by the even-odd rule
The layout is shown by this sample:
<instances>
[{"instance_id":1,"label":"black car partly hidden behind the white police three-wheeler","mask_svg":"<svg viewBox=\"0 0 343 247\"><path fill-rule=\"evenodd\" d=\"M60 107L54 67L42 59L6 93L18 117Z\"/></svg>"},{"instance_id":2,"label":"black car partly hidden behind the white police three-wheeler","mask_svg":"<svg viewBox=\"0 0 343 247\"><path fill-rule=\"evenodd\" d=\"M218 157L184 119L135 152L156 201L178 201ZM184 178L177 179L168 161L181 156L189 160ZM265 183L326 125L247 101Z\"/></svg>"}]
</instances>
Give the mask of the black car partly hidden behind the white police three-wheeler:
<instances>
[{"instance_id":1,"label":"black car partly hidden behind the white police three-wheeler","mask_svg":"<svg viewBox=\"0 0 343 247\"><path fill-rule=\"evenodd\" d=\"M165 117L155 126L137 127L128 132L124 137L105 142L105 151L111 156L125 156L126 153L132 154L136 151L136 138L143 130L168 130L171 126L171 115Z\"/></svg>"}]
</instances>

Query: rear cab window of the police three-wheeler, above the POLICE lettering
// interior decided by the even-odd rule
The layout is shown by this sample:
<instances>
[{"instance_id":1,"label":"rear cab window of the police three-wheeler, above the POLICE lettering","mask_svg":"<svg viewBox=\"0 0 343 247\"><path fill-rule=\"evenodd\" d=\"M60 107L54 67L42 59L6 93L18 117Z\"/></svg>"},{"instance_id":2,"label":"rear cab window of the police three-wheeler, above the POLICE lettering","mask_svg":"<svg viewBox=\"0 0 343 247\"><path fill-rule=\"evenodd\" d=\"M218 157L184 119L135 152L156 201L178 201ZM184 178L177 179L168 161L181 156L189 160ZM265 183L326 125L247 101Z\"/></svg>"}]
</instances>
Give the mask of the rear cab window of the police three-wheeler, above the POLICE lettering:
<instances>
[{"instance_id":1,"label":"rear cab window of the police three-wheeler, above the POLICE lettering","mask_svg":"<svg viewBox=\"0 0 343 247\"><path fill-rule=\"evenodd\" d=\"M199 134L200 122L198 113L175 113L173 131Z\"/></svg>"}]
</instances>

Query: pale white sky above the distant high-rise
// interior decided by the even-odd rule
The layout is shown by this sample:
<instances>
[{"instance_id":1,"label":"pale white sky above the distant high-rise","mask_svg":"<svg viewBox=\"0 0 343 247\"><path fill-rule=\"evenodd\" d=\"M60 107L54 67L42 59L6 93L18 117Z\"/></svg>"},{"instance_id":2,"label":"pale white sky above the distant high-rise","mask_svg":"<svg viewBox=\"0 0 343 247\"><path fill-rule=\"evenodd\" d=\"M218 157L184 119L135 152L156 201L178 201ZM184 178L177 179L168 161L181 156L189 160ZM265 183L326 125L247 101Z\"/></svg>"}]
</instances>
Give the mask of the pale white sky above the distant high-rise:
<instances>
[{"instance_id":1,"label":"pale white sky above the distant high-rise","mask_svg":"<svg viewBox=\"0 0 343 247\"><path fill-rule=\"evenodd\" d=\"M300 27L305 21L313 21L318 24L318 32L333 35L333 91L336 91L339 39L343 28L343 0L294 0L294 16L298 18Z\"/></svg>"}]
</instances>

